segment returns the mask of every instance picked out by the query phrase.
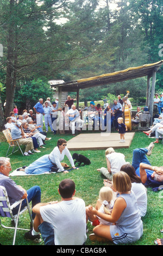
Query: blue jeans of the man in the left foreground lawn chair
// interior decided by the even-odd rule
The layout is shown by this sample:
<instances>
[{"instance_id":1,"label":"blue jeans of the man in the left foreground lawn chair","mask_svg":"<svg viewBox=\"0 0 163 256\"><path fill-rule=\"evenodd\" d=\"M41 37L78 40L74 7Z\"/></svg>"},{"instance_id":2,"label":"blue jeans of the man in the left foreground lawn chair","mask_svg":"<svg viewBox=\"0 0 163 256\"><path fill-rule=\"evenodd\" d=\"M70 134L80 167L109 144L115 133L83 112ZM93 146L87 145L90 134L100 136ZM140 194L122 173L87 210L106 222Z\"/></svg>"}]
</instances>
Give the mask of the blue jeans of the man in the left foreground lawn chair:
<instances>
[{"instance_id":1,"label":"blue jeans of the man in the left foreground lawn chair","mask_svg":"<svg viewBox=\"0 0 163 256\"><path fill-rule=\"evenodd\" d=\"M27 190L28 194L28 202L30 203L32 201L32 208L41 202L41 188L39 186L33 186ZM26 199L22 201L21 210L24 209L27 206ZM19 205L12 211L13 215L17 214ZM32 212L32 218L34 220L35 214Z\"/></svg>"}]
</instances>

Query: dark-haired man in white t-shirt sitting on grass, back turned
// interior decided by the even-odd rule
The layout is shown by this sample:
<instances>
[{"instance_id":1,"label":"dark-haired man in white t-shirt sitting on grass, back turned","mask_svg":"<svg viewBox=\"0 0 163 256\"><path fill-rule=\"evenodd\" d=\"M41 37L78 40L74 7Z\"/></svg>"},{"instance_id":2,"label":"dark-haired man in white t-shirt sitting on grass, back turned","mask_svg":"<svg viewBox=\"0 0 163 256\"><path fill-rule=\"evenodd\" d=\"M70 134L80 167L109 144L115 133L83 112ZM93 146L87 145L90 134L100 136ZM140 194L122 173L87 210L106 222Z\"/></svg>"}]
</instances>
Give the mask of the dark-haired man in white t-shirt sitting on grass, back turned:
<instances>
[{"instance_id":1,"label":"dark-haired man in white t-shirt sitting on grass, back turned","mask_svg":"<svg viewBox=\"0 0 163 256\"><path fill-rule=\"evenodd\" d=\"M87 237L85 202L80 198L73 199L75 187L71 179L64 179L58 188L60 202L53 201L34 206L33 212L36 217L32 234L39 234L40 231L45 245L85 243Z\"/></svg>"}]
</instances>

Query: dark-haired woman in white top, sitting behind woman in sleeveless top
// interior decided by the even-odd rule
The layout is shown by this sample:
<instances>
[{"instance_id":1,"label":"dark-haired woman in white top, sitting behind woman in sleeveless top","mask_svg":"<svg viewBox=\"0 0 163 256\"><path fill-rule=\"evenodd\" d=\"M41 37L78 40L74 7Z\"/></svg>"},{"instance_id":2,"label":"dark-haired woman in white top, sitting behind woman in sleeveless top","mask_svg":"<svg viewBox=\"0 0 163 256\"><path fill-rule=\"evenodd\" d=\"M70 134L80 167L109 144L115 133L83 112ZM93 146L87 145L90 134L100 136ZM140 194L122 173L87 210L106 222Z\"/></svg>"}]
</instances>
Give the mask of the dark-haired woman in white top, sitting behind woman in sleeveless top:
<instances>
[{"instance_id":1,"label":"dark-haired woman in white top, sitting behind woman in sleeveless top","mask_svg":"<svg viewBox=\"0 0 163 256\"><path fill-rule=\"evenodd\" d=\"M147 212L147 189L142 184L141 178L136 175L135 169L131 164L123 164L121 171L127 173L131 180L131 190L134 192L137 206L139 208L140 217L145 216Z\"/></svg>"}]
</instances>

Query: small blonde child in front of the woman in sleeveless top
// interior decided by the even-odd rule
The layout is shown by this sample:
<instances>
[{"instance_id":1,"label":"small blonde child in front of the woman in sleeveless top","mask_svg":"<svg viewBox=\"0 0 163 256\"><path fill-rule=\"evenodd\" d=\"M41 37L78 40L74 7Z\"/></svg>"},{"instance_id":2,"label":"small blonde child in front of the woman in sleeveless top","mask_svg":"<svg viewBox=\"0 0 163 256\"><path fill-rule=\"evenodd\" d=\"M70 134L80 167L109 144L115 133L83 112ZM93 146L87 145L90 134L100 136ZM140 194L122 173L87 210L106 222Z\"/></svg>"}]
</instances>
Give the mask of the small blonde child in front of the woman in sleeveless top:
<instances>
[{"instance_id":1,"label":"small blonde child in front of the woman in sleeveless top","mask_svg":"<svg viewBox=\"0 0 163 256\"><path fill-rule=\"evenodd\" d=\"M111 200L115 200L114 192L112 189L110 187L102 187L99 191L99 200L101 200L101 203L103 203L104 200L108 203L110 203ZM105 214L111 214L110 209L108 209L105 205L104 212Z\"/></svg>"}]
</instances>

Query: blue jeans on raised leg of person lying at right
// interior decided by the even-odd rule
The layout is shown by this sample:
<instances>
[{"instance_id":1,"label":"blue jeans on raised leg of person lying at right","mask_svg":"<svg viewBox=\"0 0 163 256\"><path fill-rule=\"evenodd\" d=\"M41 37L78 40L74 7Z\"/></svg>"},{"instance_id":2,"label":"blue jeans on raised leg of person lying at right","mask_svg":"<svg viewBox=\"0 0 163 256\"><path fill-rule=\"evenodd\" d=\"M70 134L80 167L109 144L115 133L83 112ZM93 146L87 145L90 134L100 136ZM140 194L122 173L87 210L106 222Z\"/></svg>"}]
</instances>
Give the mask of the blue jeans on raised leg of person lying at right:
<instances>
[{"instance_id":1,"label":"blue jeans on raised leg of person lying at right","mask_svg":"<svg viewBox=\"0 0 163 256\"><path fill-rule=\"evenodd\" d=\"M151 163L147 159L147 154L148 149L146 148L139 148L139 149L134 149L133 150L133 161L132 161L132 166L135 168L139 168L140 163L146 163L151 166Z\"/></svg>"}]
</instances>

